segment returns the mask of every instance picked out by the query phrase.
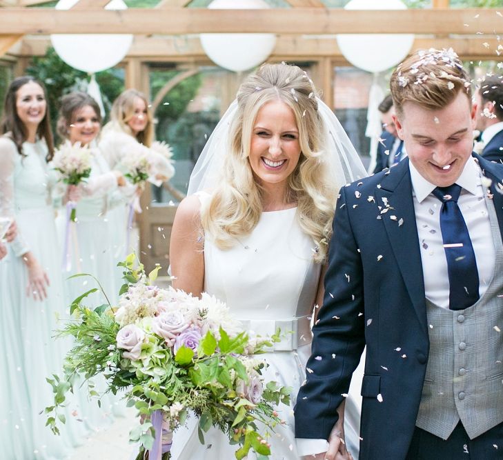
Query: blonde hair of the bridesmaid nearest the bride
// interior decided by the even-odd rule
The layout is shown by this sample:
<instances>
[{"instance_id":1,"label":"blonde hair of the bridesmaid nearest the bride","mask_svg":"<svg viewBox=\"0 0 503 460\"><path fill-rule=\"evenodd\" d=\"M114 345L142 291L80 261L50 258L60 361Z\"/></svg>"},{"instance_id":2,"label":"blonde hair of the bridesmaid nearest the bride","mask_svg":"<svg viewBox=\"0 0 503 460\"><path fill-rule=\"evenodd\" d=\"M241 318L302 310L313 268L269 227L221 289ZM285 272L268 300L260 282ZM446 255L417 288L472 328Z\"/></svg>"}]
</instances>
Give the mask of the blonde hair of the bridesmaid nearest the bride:
<instances>
[{"instance_id":1,"label":"blonde hair of the bridesmaid nearest the bride","mask_svg":"<svg viewBox=\"0 0 503 460\"><path fill-rule=\"evenodd\" d=\"M132 133L131 128L128 125L128 121L135 114L135 99L141 99L144 101L147 108L147 126L143 131L140 131L136 136ZM150 147L154 141L154 123L152 118L152 111L150 110L147 98L143 92L137 90L126 90L119 94L119 97L115 99L112 104L112 110L110 111L110 122L106 124L103 128L103 132L110 129L121 130L130 134L130 136L135 137L135 139L144 144L144 146Z\"/></svg>"}]
</instances>

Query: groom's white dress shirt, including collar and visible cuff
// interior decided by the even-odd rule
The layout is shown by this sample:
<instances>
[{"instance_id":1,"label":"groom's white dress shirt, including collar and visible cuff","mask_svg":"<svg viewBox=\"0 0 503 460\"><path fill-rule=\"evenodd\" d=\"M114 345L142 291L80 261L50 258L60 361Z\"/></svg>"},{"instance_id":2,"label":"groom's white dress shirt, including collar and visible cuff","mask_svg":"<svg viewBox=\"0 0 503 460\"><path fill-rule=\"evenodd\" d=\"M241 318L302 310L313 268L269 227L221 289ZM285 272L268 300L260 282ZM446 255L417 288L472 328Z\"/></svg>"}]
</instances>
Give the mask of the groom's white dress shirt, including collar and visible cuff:
<instances>
[{"instance_id":1,"label":"groom's white dress shirt, including collar and visible cuff","mask_svg":"<svg viewBox=\"0 0 503 460\"><path fill-rule=\"evenodd\" d=\"M408 165L411 170L425 297L437 306L448 308L447 259L440 230L442 203L432 194L436 186L424 179L411 161ZM463 214L475 252L480 283L479 294L482 296L493 277L495 248L484 199L486 189L482 185L482 171L473 157L466 161L456 183L462 188L457 204ZM313 455L326 452L327 449L328 442L325 439L297 439L297 451L300 455Z\"/></svg>"}]
</instances>

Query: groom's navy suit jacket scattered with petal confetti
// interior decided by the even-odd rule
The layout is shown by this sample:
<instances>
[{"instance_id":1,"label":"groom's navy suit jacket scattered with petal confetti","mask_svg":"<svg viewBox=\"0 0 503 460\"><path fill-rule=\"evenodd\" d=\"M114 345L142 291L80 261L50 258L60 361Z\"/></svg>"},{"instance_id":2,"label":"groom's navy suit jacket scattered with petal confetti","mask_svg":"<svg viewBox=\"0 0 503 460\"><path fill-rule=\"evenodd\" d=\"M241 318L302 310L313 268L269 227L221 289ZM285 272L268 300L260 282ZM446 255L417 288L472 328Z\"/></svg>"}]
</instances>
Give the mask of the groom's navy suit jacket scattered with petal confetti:
<instances>
[{"instance_id":1,"label":"groom's navy suit jacket scattered with petal confetti","mask_svg":"<svg viewBox=\"0 0 503 460\"><path fill-rule=\"evenodd\" d=\"M503 179L503 165L475 157L493 181L501 231L503 194L495 184ZM295 406L295 436L328 439L366 345L359 458L403 460L429 350L408 159L343 187L333 230L324 304Z\"/></svg>"}]
</instances>

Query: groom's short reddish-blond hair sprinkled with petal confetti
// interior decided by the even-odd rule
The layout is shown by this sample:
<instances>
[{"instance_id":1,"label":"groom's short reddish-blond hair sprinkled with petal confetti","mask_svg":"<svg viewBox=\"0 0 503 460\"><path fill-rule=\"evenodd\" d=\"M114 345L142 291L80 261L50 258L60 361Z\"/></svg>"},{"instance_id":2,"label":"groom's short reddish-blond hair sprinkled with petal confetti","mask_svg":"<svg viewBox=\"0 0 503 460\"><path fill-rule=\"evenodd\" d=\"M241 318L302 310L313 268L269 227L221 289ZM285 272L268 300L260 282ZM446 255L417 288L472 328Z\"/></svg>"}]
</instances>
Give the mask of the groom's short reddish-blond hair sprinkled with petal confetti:
<instances>
[{"instance_id":1,"label":"groom's short reddish-blond hair sprinkled with petal confetti","mask_svg":"<svg viewBox=\"0 0 503 460\"><path fill-rule=\"evenodd\" d=\"M463 91L471 101L471 83L452 48L419 50L397 66L390 81L395 112L403 117L406 102L430 110L448 106Z\"/></svg>"}]
</instances>

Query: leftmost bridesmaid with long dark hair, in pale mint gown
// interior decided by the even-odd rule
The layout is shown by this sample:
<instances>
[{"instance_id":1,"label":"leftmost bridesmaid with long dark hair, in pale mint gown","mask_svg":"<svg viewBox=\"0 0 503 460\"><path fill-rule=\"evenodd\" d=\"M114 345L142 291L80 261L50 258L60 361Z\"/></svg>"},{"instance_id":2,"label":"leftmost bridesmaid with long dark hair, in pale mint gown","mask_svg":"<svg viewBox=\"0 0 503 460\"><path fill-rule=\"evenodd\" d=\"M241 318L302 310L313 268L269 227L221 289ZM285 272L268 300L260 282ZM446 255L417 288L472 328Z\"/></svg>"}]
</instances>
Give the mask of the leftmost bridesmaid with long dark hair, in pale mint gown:
<instances>
[{"instance_id":1,"label":"leftmost bridesmaid with long dark hair, in pale mint gown","mask_svg":"<svg viewBox=\"0 0 503 460\"><path fill-rule=\"evenodd\" d=\"M66 351L52 339L66 303L48 166L52 134L41 83L32 77L12 81L1 130L0 215L15 219L18 234L0 263L0 456L64 459L83 428L68 408L66 429L55 436L41 413L53 399L46 377L61 370Z\"/></svg>"}]
</instances>

